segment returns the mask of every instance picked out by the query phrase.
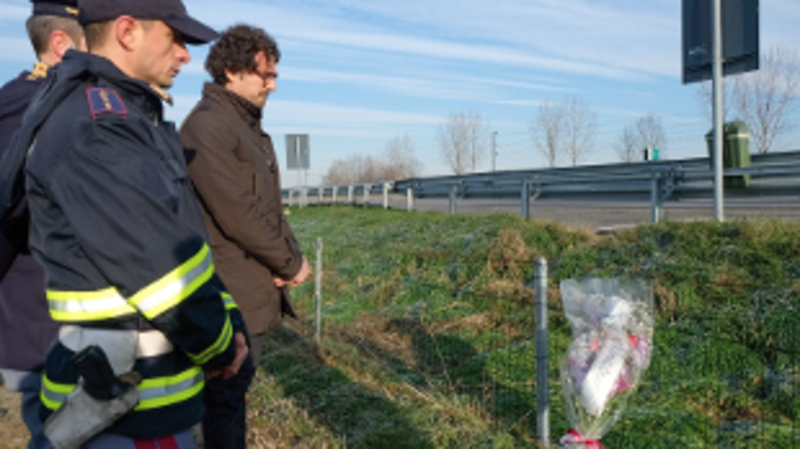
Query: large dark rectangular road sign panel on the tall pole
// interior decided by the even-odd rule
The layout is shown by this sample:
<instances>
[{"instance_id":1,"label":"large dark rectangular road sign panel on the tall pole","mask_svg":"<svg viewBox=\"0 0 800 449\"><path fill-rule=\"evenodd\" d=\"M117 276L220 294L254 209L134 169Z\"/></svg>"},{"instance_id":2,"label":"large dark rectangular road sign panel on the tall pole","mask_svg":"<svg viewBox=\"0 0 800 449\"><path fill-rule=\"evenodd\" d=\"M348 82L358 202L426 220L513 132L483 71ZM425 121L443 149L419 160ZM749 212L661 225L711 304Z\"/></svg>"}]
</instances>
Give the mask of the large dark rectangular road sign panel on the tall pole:
<instances>
[{"instance_id":1,"label":"large dark rectangular road sign panel on the tall pole","mask_svg":"<svg viewBox=\"0 0 800 449\"><path fill-rule=\"evenodd\" d=\"M683 83L710 80L711 0L683 0ZM759 0L722 2L724 75L758 70Z\"/></svg>"}]
</instances>

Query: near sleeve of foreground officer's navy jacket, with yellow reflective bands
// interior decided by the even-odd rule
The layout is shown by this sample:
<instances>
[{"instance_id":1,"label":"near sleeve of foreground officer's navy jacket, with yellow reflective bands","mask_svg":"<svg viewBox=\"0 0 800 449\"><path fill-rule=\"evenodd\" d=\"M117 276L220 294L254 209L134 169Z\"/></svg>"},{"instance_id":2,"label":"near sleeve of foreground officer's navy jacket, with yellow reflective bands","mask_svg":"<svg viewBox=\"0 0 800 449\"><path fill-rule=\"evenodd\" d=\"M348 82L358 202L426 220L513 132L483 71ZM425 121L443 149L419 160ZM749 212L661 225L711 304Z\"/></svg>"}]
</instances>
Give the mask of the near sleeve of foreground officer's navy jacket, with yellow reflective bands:
<instances>
[{"instance_id":1,"label":"near sleeve of foreground officer's navy jacket, with yellow reflective bands","mask_svg":"<svg viewBox=\"0 0 800 449\"><path fill-rule=\"evenodd\" d=\"M146 139L119 122L79 135L45 183L86 257L196 364L229 365L236 348L224 286L204 237L176 209L188 180L168 175Z\"/></svg>"}]
</instances>

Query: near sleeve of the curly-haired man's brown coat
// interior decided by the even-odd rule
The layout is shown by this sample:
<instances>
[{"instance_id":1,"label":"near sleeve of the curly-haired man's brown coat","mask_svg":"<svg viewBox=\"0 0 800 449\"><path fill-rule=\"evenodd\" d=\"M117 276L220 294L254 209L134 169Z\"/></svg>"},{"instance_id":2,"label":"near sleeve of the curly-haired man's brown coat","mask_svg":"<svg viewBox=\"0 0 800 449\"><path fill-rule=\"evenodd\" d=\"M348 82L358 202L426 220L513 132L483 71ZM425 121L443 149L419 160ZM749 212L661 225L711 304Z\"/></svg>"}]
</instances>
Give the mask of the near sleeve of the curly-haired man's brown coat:
<instances>
[{"instance_id":1,"label":"near sleeve of the curly-haired man's brown coat","mask_svg":"<svg viewBox=\"0 0 800 449\"><path fill-rule=\"evenodd\" d=\"M300 272L302 255L270 223L251 196L234 149L238 138L210 114L197 113L181 129L189 173L203 205L230 239L282 279Z\"/></svg>"}]
</instances>

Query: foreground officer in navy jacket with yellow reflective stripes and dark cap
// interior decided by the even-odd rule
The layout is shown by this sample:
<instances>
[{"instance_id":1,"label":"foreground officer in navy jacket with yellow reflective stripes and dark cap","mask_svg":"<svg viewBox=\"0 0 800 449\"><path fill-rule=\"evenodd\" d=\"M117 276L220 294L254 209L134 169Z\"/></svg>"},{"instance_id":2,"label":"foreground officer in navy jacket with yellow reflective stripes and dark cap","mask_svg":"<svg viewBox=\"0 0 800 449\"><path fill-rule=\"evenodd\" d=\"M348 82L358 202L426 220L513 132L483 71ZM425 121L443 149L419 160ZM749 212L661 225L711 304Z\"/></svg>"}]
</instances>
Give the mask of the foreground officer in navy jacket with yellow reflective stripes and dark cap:
<instances>
[{"instance_id":1,"label":"foreground officer in navy jacket with yellow reflective stripes and dark cap","mask_svg":"<svg viewBox=\"0 0 800 449\"><path fill-rule=\"evenodd\" d=\"M89 53L67 53L0 167L0 217L17 207L24 179L30 247L62 324L42 418L70 407L73 356L97 345L115 374L143 381L136 408L85 447L193 447L203 371L234 376L246 331L215 274L163 89L190 60L185 44L216 33L180 0L78 4Z\"/></svg>"}]
</instances>

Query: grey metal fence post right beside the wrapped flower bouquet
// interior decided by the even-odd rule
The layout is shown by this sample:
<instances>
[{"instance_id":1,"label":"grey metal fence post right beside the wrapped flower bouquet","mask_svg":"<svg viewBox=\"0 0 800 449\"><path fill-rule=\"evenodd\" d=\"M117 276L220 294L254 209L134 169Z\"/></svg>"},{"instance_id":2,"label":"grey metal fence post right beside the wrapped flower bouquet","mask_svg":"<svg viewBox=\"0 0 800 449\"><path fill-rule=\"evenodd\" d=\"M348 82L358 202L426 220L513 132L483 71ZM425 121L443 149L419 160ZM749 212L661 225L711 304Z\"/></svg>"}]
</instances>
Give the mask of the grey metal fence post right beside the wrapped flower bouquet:
<instances>
[{"instance_id":1,"label":"grey metal fence post right beside the wrapped flower bouquet","mask_svg":"<svg viewBox=\"0 0 800 449\"><path fill-rule=\"evenodd\" d=\"M536 281L536 431L543 447L550 444L550 381L547 377L547 259L537 258Z\"/></svg>"}]
</instances>

